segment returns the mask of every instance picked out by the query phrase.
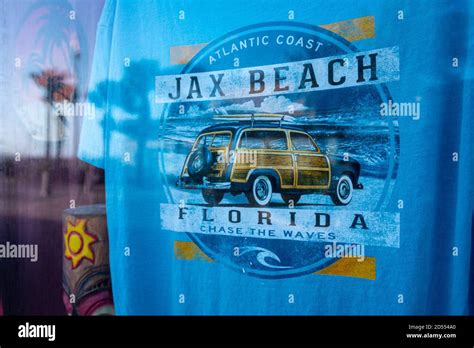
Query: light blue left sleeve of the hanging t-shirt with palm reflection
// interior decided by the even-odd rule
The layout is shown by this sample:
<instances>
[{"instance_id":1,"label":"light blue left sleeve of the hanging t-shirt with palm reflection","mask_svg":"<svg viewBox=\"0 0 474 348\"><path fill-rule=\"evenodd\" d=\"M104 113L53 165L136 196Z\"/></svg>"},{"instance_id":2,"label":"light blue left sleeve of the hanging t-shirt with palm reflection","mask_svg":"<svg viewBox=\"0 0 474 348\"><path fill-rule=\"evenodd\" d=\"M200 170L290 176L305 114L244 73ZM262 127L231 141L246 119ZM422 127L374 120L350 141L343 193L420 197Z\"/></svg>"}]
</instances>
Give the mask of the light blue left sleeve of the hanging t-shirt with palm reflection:
<instances>
[{"instance_id":1,"label":"light blue left sleeve of the hanging t-shirt with palm reflection","mask_svg":"<svg viewBox=\"0 0 474 348\"><path fill-rule=\"evenodd\" d=\"M77 156L104 168L107 154L108 86L115 0L107 0L97 27L94 58L89 80L87 102L94 113L84 117Z\"/></svg>"}]
</instances>

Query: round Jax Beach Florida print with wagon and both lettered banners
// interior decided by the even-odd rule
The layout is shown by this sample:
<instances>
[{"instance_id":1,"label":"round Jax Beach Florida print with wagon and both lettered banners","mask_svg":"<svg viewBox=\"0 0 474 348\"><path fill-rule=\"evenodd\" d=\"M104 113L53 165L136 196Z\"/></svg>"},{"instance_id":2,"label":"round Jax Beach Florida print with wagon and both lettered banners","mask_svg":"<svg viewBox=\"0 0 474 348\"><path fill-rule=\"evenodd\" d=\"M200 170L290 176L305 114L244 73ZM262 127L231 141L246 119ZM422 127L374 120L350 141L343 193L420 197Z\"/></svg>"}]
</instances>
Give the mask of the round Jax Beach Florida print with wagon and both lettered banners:
<instances>
[{"instance_id":1,"label":"round Jax Beach Florida print with wagon and both lettered banners","mask_svg":"<svg viewBox=\"0 0 474 348\"><path fill-rule=\"evenodd\" d=\"M335 268L338 250L398 248L388 204L398 127L380 115L398 57L397 47L359 51L330 30L274 22L157 76L162 229L186 233L201 259L265 278ZM192 254L183 243L177 255Z\"/></svg>"}]
</instances>

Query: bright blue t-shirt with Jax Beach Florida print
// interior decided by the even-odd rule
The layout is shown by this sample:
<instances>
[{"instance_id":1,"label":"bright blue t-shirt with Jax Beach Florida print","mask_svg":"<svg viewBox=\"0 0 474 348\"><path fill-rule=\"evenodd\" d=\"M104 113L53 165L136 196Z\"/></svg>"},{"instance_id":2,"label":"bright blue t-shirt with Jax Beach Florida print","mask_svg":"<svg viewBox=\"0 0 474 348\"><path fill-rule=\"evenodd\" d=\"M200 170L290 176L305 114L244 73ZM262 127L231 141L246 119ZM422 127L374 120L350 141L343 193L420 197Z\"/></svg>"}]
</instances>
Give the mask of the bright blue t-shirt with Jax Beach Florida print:
<instances>
[{"instance_id":1,"label":"bright blue t-shirt with Jax Beach Florida print","mask_svg":"<svg viewBox=\"0 0 474 348\"><path fill-rule=\"evenodd\" d=\"M117 313L472 313L472 7L107 1Z\"/></svg>"}]
</instances>

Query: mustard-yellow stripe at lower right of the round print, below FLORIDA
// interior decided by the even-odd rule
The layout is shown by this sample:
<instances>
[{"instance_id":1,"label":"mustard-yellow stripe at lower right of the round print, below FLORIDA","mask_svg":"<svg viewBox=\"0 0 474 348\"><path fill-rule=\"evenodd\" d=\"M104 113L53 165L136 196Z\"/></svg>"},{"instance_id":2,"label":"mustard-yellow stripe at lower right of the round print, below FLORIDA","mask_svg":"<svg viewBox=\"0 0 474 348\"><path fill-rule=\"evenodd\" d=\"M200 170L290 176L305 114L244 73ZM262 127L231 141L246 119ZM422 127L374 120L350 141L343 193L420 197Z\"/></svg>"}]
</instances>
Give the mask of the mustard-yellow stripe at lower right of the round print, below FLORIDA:
<instances>
[{"instance_id":1,"label":"mustard-yellow stripe at lower right of the round print, below FLORIDA","mask_svg":"<svg viewBox=\"0 0 474 348\"><path fill-rule=\"evenodd\" d=\"M364 278L375 280L376 266L375 257L365 257L364 261L357 258L342 258L314 274L338 275L345 277Z\"/></svg>"}]
</instances>

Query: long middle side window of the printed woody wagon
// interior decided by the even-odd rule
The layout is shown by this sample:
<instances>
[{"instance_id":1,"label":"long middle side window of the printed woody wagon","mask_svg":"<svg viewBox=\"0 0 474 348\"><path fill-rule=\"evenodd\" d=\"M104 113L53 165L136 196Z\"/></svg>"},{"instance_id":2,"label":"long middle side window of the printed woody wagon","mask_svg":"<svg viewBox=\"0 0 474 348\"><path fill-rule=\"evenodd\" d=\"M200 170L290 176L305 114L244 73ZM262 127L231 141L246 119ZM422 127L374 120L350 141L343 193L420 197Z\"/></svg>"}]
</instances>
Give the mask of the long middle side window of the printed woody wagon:
<instances>
[{"instance_id":1,"label":"long middle side window of the printed woody wagon","mask_svg":"<svg viewBox=\"0 0 474 348\"><path fill-rule=\"evenodd\" d=\"M283 131L245 131L240 138L243 149L287 150L286 134Z\"/></svg>"}]
</instances>

